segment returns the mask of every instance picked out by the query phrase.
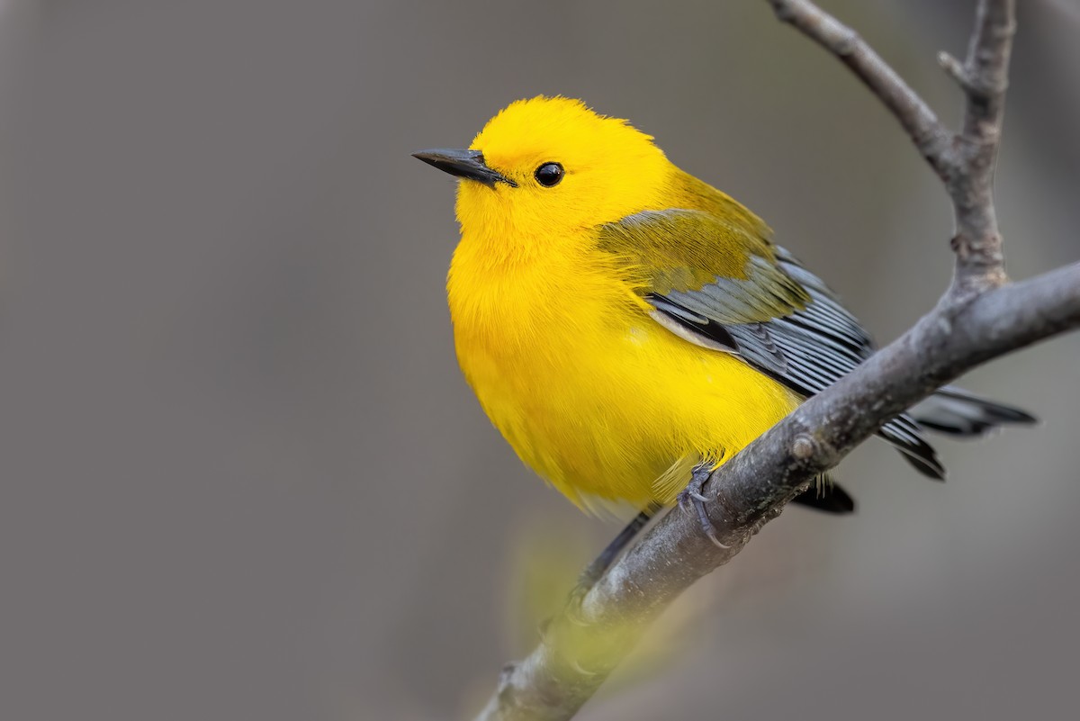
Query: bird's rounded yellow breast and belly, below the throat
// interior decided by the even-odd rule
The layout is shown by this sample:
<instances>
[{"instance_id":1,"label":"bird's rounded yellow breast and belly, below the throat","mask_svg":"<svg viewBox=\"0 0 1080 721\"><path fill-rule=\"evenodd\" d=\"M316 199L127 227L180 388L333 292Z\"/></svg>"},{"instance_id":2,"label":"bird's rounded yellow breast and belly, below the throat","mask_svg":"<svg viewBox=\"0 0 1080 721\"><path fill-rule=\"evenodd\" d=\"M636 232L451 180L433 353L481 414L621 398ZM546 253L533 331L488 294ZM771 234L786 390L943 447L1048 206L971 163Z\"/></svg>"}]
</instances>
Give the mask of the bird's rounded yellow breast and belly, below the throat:
<instances>
[{"instance_id":1,"label":"bird's rounded yellow breast and belly, below the throat","mask_svg":"<svg viewBox=\"0 0 1080 721\"><path fill-rule=\"evenodd\" d=\"M721 462L799 403L666 330L625 287L576 278L590 287L540 298L515 281L468 307L451 288L458 359L522 460L579 506L671 503L694 464Z\"/></svg>"}]
</instances>

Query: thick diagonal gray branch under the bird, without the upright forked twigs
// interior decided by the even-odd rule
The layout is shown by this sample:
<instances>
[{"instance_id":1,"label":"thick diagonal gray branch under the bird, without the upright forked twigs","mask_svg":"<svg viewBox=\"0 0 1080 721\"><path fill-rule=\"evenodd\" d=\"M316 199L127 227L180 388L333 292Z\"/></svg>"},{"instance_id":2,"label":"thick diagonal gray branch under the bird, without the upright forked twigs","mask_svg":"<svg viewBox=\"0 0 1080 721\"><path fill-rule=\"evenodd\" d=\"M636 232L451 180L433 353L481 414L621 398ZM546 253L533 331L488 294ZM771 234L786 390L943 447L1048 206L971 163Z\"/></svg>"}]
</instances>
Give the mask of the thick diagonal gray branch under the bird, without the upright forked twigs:
<instances>
[{"instance_id":1,"label":"thick diagonal gray branch under the bird, without the upright forked twigs","mask_svg":"<svg viewBox=\"0 0 1080 721\"><path fill-rule=\"evenodd\" d=\"M707 504L719 548L675 508L508 666L481 720L571 718L648 624L698 579L738 554L815 475L895 413L971 368L1080 326L1080 263L930 314L720 466Z\"/></svg>"}]
</instances>

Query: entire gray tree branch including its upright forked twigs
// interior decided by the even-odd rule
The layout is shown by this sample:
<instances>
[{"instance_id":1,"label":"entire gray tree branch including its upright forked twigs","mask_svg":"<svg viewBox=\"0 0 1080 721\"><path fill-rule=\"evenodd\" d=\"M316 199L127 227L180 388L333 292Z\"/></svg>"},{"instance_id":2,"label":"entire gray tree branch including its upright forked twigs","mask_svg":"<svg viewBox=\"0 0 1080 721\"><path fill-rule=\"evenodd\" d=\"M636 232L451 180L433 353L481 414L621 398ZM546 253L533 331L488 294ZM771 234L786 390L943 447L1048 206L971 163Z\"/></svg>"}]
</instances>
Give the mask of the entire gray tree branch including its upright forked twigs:
<instances>
[{"instance_id":1,"label":"entire gray tree branch including its upright forked twigs","mask_svg":"<svg viewBox=\"0 0 1080 721\"><path fill-rule=\"evenodd\" d=\"M1080 263L1007 284L993 201L1013 0L981 0L964 64L942 59L964 91L959 134L852 30L806 0L769 0L778 17L837 55L885 103L945 183L956 209L956 273L937 307L863 365L808 399L734 458L706 488L719 540L669 513L503 670L481 721L571 718L649 623L702 575L726 563L810 480L896 413L991 358L1080 326Z\"/></svg>"}]
</instances>

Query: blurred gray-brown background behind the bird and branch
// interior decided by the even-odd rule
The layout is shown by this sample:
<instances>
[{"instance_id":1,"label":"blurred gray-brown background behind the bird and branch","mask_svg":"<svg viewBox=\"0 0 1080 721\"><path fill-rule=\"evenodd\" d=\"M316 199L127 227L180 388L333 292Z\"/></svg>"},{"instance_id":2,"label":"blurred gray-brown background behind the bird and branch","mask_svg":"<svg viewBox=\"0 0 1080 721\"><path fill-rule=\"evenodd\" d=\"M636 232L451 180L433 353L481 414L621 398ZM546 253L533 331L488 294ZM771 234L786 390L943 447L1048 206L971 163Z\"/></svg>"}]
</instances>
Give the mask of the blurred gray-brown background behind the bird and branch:
<instances>
[{"instance_id":1,"label":"blurred gray-brown background behind the bird and branch","mask_svg":"<svg viewBox=\"0 0 1080 721\"><path fill-rule=\"evenodd\" d=\"M1009 269L1080 257L1080 2L1021 4ZM971 1L846 0L950 122ZM892 119L764 1L0 3L0 718L455 719L617 526L514 458L454 357L454 182L585 98L762 215L881 340L950 273ZM1080 336L964 379L1044 423L885 445L792 508L582 719L1063 717Z\"/></svg>"}]
</instances>

